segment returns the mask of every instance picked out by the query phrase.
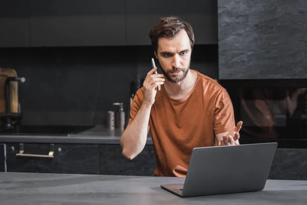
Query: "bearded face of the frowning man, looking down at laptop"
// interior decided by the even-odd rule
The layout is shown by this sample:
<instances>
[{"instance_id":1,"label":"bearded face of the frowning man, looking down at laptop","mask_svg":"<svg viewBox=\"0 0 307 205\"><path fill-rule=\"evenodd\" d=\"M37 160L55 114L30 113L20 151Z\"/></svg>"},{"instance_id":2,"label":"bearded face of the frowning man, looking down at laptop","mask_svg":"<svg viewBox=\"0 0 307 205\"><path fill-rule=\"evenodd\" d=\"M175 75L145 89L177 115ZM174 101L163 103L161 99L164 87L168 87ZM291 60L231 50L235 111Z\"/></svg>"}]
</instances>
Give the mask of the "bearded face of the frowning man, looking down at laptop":
<instances>
[{"instance_id":1,"label":"bearded face of the frowning man, looking down at laptop","mask_svg":"<svg viewBox=\"0 0 307 205\"><path fill-rule=\"evenodd\" d=\"M191 60L191 45L185 30L181 30L173 38L159 38L158 51L155 54L168 81L179 83L187 76Z\"/></svg>"}]
</instances>

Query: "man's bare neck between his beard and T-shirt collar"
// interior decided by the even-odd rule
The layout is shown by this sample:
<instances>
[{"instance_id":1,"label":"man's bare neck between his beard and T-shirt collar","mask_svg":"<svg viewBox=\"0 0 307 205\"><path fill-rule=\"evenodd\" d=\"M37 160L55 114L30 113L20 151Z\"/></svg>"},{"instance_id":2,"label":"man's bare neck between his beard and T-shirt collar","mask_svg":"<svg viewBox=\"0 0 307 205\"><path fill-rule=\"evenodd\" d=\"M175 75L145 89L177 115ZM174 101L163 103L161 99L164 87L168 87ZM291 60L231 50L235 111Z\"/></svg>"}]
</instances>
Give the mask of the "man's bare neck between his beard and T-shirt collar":
<instances>
[{"instance_id":1,"label":"man's bare neck between his beard and T-shirt collar","mask_svg":"<svg viewBox=\"0 0 307 205\"><path fill-rule=\"evenodd\" d=\"M182 98L187 95L194 87L197 74L189 69L187 76L179 83L171 83L168 80L164 81L164 87L169 96L174 98Z\"/></svg>"}]
</instances>

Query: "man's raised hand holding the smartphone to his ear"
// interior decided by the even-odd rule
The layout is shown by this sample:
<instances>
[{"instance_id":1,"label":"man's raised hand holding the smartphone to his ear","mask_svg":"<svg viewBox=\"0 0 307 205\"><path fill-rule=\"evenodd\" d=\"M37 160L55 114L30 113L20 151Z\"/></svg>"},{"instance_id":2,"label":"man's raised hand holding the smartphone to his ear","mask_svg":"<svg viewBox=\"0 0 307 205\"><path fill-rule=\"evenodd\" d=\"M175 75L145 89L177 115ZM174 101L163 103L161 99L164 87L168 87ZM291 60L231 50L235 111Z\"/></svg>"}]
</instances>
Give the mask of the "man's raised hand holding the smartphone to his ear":
<instances>
[{"instance_id":1,"label":"man's raised hand holding the smartphone to his ear","mask_svg":"<svg viewBox=\"0 0 307 205\"><path fill-rule=\"evenodd\" d=\"M157 86L164 84L165 79L162 74L155 74L156 68L150 70L143 83L144 87L144 99L143 104L148 106L153 105L155 103L155 97L157 94Z\"/></svg>"}]
</instances>

